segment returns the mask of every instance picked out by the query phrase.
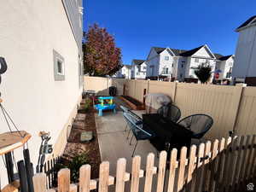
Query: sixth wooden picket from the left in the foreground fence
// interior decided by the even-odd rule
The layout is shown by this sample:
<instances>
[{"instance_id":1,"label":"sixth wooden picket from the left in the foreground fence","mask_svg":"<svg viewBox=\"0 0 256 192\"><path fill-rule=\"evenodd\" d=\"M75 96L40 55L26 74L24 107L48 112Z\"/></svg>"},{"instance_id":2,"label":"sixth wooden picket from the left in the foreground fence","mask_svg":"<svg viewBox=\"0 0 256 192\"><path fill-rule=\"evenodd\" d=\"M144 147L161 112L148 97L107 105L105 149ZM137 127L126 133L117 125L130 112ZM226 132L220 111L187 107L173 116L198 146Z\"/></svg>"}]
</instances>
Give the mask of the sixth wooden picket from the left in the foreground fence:
<instances>
[{"instance_id":1,"label":"sixth wooden picket from the left in the foreground fence","mask_svg":"<svg viewBox=\"0 0 256 192\"><path fill-rule=\"evenodd\" d=\"M140 181L141 157L135 156L132 159L131 167L131 192L138 192Z\"/></svg>"}]
</instances>

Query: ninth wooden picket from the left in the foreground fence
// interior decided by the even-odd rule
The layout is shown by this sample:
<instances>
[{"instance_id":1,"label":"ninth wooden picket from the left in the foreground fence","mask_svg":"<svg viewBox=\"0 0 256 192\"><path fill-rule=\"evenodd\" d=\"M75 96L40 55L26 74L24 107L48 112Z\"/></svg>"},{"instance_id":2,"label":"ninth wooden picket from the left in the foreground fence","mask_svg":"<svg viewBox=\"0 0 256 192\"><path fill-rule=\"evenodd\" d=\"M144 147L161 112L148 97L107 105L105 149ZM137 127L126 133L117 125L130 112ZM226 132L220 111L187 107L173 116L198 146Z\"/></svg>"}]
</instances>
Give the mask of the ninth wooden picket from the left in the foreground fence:
<instances>
[{"instance_id":1,"label":"ninth wooden picket from the left in the foreground fence","mask_svg":"<svg viewBox=\"0 0 256 192\"><path fill-rule=\"evenodd\" d=\"M167 189L168 192L174 191L176 160L177 160L177 149L173 148L171 152L171 159L170 159L169 179L168 179L168 189Z\"/></svg>"}]
</instances>

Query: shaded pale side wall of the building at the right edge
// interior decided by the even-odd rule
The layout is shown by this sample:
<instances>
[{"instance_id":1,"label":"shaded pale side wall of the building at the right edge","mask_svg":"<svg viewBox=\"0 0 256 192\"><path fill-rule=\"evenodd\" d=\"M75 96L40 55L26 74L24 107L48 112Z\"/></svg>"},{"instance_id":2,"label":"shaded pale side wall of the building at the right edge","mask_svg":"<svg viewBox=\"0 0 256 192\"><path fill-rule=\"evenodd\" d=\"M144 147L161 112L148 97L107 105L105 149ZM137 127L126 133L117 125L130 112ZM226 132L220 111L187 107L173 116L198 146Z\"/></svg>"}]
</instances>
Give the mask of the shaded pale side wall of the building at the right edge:
<instances>
[{"instance_id":1,"label":"shaded pale side wall of the building at the right edge","mask_svg":"<svg viewBox=\"0 0 256 192\"><path fill-rule=\"evenodd\" d=\"M233 78L256 77L256 26L239 32Z\"/></svg>"}]
</instances>

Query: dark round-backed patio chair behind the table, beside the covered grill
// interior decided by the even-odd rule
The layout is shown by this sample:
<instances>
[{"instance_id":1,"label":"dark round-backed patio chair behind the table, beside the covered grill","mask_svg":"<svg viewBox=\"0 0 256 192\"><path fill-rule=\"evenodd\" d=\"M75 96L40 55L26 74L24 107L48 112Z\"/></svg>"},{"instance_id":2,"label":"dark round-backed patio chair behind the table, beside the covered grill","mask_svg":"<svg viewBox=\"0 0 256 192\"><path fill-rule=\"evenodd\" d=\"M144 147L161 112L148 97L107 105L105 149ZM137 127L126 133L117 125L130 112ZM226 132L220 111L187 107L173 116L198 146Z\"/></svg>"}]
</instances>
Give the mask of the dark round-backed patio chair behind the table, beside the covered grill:
<instances>
[{"instance_id":1,"label":"dark round-backed patio chair behind the table, beside the covered grill","mask_svg":"<svg viewBox=\"0 0 256 192\"><path fill-rule=\"evenodd\" d=\"M175 123L178 119L180 119L181 116L180 109L172 104L163 105L157 110L157 113L161 114L166 119L172 120Z\"/></svg>"}]
</instances>

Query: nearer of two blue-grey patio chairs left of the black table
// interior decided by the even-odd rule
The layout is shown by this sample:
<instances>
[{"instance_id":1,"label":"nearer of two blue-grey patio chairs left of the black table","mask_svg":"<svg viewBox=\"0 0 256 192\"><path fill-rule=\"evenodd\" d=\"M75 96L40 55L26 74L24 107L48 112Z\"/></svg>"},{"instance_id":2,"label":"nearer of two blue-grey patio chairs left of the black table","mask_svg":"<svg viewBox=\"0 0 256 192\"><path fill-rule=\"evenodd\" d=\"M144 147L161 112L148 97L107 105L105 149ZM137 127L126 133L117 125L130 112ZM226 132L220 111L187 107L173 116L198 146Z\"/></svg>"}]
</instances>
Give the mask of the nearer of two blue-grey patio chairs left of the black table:
<instances>
[{"instance_id":1,"label":"nearer of two blue-grey patio chairs left of the black table","mask_svg":"<svg viewBox=\"0 0 256 192\"><path fill-rule=\"evenodd\" d=\"M137 142L140 140L148 140L154 137L154 132L148 129L146 125L143 125L142 120L137 119L137 117L130 112L124 113L124 117L133 133L133 135L131 136L131 141L133 137L136 138L136 144L131 154L131 157L133 157L135 150L137 148ZM130 145L131 145L131 141L130 141Z\"/></svg>"}]
</instances>

